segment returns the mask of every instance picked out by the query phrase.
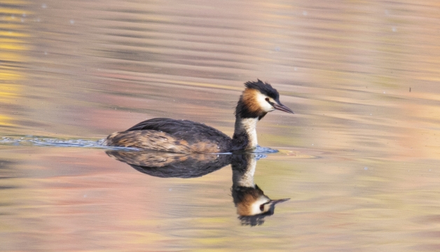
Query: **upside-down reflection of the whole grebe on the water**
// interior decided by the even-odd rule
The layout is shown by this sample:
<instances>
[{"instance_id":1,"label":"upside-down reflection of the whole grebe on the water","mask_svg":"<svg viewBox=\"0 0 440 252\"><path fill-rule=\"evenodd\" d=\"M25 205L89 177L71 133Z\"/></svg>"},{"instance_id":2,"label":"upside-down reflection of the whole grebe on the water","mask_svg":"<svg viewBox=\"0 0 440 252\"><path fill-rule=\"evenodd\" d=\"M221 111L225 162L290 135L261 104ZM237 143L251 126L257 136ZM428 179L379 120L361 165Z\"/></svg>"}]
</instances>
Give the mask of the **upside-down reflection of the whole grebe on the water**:
<instances>
[{"instance_id":1,"label":"upside-down reflection of the whole grebe on the water","mask_svg":"<svg viewBox=\"0 0 440 252\"><path fill-rule=\"evenodd\" d=\"M261 225L274 214L275 204L289 199L270 200L254 183L256 161L263 155L179 154L160 151L106 151L107 155L125 162L137 171L161 178L195 178L231 164L233 202L242 225Z\"/></svg>"}]
</instances>

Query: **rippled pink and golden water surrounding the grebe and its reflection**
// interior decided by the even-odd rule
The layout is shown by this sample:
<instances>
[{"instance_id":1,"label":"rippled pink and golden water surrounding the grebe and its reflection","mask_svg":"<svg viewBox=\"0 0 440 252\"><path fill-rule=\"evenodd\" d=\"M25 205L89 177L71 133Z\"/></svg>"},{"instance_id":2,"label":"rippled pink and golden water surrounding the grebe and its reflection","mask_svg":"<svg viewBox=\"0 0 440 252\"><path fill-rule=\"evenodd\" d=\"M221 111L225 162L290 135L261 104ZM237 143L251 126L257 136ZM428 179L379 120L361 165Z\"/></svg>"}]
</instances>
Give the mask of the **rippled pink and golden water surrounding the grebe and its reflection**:
<instances>
[{"instance_id":1,"label":"rippled pink and golden water surrounding the grebe and its reflection","mask_svg":"<svg viewBox=\"0 0 440 252\"><path fill-rule=\"evenodd\" d=\"M436 1L0 7L1 251L440 250ZM256 78L295 111L258 125L280 152L254 182L290 198L260 225L229 165L160 178L94 146L154 117L232 135Z\"/></svg>"}]
</instances>

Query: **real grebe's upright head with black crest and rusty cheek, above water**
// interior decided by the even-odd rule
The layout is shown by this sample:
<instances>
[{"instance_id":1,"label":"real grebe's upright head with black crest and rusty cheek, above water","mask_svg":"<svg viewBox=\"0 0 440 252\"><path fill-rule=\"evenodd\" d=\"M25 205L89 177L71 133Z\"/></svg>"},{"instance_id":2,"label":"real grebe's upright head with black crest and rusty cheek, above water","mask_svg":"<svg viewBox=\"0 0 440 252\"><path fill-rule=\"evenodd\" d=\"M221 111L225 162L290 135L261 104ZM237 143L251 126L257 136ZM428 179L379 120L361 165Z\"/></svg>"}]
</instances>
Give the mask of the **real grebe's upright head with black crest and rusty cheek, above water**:
<instances>
[{"instance_id":1,"label":"real grebe's upright head with black crest and rusty cheek, above water","mask_svg":"<svg viewBox=\"0 0 440 252\"><path fill-rule=\"evenodd\" d=\"M249 81L246 89L237 104L235 116L240 118L263 118L266 113L275 109L287 113L294 113L280 102L280 94L269 83L263 81Z\"/></svg>"}]
</instances>

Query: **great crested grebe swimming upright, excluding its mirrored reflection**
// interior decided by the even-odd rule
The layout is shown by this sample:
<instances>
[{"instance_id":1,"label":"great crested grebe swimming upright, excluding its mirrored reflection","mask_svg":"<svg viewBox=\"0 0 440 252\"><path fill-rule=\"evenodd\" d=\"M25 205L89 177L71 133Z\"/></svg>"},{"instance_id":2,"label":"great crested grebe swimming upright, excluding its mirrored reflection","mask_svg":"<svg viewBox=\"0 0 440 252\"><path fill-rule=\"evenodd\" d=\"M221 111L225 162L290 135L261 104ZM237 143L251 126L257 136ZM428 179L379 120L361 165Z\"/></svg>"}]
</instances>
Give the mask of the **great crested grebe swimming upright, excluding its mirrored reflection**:
<instances>
[{"instance_id":1,"label":"great crested grebe swimming upright, excluding its mirrored reflection","mask_svg":"<svg viewBox=\"0 0 440 252\"><path fill-rule=\"evenodd\" d=\"M235 130L228 137L219 130L191 120L153 118L115 132L105 146L134 147L173 153L226 153L253 151L257 146L256 123L275 109L294 113L280 102L280 94L261 80L245 83L235 108Z\"/></svg>"}]
</instances>

